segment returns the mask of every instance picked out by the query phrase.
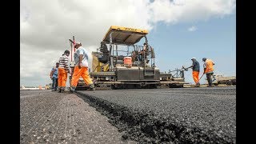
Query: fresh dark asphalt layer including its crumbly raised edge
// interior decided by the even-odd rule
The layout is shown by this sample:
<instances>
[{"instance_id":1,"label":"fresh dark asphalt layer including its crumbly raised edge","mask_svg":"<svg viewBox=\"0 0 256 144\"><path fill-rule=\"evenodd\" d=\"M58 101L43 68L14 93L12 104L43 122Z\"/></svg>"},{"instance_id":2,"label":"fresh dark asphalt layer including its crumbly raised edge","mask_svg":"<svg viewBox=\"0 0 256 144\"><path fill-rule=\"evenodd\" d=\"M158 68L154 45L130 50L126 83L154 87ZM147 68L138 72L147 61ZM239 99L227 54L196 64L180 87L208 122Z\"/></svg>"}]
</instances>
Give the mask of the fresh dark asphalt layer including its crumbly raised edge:
<instances>
[{"instance_id":1,"label":"fresh dark asphalt layer including its crumbly raised edge","mask_svg":"<svg viewBox=\"0 0 256 144\"><path fill-rule=\"evenodd\" d=\"M139 143L236 143L236 87L96 90L77 94Z\"/></svg>"}]
</instances>

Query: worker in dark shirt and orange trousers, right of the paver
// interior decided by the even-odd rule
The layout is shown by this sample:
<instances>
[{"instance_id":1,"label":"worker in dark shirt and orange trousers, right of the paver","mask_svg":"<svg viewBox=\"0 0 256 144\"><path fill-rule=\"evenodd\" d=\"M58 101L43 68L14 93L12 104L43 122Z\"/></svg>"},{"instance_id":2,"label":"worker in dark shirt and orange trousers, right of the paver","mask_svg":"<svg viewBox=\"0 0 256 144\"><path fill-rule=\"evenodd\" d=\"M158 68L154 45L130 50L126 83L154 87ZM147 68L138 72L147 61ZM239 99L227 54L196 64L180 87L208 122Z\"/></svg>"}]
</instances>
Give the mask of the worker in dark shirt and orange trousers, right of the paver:
<instances>
[{"instance_id":1,"label":"worker in dark shirt and orange trousers, right of the paver","mask_svg":"<svg viewBox=\"0 0 256 144\"><path fill-rule=\"evenodd\" d=\"M200 86L200 83L199 83L199 72L200 72L199 62L196 60L196 58L191 58L191 60L193 62L192 66L190 66L186 69L192 68L192 75L193 75L195 85Z\"/></svg>"}]
</instances>

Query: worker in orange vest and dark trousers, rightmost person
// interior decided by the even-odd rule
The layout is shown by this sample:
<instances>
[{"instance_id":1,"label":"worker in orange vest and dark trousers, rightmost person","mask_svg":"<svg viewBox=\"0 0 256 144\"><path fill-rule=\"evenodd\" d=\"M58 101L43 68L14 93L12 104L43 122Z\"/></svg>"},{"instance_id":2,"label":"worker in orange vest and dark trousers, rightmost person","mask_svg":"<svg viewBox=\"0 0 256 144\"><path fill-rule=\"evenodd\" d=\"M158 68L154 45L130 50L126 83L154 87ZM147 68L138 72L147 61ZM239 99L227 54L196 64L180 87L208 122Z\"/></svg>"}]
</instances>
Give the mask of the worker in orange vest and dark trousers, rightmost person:
<instances>
[{"instance_id":1,"label":"worker in orange vest and dark trousers, rightmost person","mask_svg":"<svg viewBox=\"0 0 256 144\"><path fill-rule=\"evenodd\" d=\"M212 75L214 74L214 65L215 63L208 59L208 58L202 58L202 61L204 62L203 64L203 74L206 74L206 78L208 81L209 86L214 86L213 85L213 80L212 80Z\"/></svg>"}]
</instances>

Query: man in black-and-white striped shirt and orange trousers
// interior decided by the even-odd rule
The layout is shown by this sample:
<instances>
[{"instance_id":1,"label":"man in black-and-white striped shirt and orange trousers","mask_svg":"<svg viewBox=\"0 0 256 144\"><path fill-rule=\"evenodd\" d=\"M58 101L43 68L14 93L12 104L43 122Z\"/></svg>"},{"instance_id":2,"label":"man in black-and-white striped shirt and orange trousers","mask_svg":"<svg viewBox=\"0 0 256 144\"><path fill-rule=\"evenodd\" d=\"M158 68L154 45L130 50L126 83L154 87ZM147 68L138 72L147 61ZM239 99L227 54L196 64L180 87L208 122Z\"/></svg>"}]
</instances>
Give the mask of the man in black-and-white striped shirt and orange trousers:
<instances>
[{"instance_id":1,"label":"man in black-and-white striped shirt and orange trousers","mask_svg":"<svg viewBox=\"0 0 256 144\"><path fill-rule=\"evenodd\" d=\"M62 54L62 57L59 58L59 66L58 66L58 92L64 92L66 88L66 78L67 73L70 73L69 69L69 57L70 56L70 50L65 50L64 54Z\"/></svg>"}]
</instances>

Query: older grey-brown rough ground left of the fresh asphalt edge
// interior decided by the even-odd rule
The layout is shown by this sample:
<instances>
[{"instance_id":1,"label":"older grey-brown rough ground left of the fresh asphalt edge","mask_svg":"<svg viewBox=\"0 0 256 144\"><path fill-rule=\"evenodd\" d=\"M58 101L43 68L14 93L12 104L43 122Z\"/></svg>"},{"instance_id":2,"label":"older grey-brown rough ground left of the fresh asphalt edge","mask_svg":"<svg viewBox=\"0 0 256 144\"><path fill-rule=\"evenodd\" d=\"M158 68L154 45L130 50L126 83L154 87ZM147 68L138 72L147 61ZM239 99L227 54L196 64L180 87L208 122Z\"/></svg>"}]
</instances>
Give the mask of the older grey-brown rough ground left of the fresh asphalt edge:
<instances>
[{"instance_id":1,"label":"older grey-brown rough ground left of the fresh asphalt edge","mask_svg":"<svg viewBox=\"0 0 256 144\"><path fill-rule=\"evenodd\" d=\"M20 91L20 143L136 143L75 94Z\"/></svg>"}]
</instances>

